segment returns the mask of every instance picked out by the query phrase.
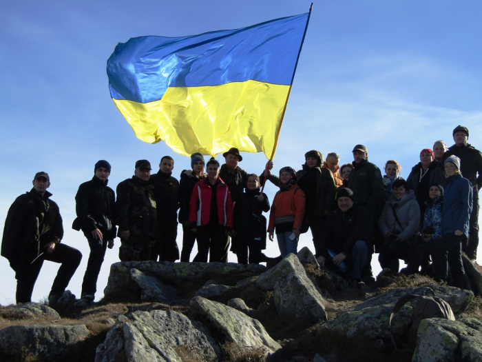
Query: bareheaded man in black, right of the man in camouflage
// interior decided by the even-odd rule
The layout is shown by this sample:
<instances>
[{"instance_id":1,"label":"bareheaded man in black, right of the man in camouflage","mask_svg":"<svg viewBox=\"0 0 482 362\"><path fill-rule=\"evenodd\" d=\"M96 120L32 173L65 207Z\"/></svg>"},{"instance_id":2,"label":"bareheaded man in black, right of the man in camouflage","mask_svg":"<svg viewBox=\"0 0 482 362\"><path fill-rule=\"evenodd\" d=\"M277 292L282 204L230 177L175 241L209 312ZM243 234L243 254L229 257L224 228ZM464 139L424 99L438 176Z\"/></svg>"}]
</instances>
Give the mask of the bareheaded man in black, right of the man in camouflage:
<instances>
[{"instance_id":1,"label":"bareheaded man in black, right of the man in camouflage","mask_svg":"<svg viewBox=\"0 0 482 362\"><path fill-rule=\"evenodd\" d=\"M159 171L151 175L149 183L154 186L156 197L158 238L151 250L151 260L176 261L179 249L178 236L179 181L172 177L174 159L165 156L160 159Z\"/></svg>"}]
</instances>

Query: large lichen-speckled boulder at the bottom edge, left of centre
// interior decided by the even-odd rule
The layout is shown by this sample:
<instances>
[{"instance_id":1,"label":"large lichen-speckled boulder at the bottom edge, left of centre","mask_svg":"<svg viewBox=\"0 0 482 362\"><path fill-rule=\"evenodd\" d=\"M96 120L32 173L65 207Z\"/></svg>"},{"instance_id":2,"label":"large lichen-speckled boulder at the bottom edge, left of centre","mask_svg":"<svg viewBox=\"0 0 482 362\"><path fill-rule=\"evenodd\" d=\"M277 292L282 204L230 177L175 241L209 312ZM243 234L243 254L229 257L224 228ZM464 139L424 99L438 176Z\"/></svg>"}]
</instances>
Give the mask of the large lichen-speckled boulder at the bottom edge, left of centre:
<instances>
[{"instance_id":1,"label":"large lichen-speckled boulder at the bottom edge, left of centre","mask_svg":"<svg viewBox=\"0 0 482 362\"><path fill-rule=\"evenodd\" d=\"M220 353L207 328L172 310L121 316L98 346L96 362L216 361Z\"/></svg>"}]
</instances>

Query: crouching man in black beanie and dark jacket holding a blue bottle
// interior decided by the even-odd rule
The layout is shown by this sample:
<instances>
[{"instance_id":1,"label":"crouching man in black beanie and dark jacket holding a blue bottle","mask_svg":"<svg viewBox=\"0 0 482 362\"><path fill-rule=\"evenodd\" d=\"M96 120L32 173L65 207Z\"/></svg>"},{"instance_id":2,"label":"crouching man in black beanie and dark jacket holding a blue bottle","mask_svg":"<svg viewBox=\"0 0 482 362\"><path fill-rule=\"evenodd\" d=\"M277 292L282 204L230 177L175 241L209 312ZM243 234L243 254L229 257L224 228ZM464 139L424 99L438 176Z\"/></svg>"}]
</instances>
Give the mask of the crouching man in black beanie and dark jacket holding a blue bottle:
<instances>
[{"instance_id":1,"label":"crouching man in black beanie and dark jacket holding a blue bottle","mask_svg":"<svg viewBox=\"0 0 482 362\"><path fill-rule=\"evenodd\" d=\"M349 188L338 189L338 209L328 214L322 239L315 249L320 265L348 276L350 283L362 288L362 268L367 263L371 230L368 218L363 210L353 206L352 198Z\"/></svg>"}]
</instances>

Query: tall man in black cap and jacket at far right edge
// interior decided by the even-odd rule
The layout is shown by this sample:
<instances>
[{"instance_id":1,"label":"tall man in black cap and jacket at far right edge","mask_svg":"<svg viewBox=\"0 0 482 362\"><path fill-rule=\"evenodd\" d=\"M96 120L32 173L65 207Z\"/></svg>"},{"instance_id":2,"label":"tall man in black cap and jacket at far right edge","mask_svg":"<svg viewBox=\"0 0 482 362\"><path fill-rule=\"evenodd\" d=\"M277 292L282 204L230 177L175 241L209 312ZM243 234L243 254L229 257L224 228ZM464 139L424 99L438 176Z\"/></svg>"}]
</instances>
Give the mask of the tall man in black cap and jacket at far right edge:
<instances>
[{"instance_id":1,"label":"tall man in black cap and jacket at far right edge","mask_svg":"<svg viewBox=\"0 0 482 362\"><path fill-rule=\"evenodd\" d=\"M482 187L482 153L468 143L469 130L463 125L457 125L452 132L455 144L443 154L443 161L447 157L455 156L460 159L460 172L472 183L473 203L470 214L470 229L468 245L464 245L463 251L467 256L475 260L477 247L479 246L479 190Z\"/></svg>"}]
</instances>

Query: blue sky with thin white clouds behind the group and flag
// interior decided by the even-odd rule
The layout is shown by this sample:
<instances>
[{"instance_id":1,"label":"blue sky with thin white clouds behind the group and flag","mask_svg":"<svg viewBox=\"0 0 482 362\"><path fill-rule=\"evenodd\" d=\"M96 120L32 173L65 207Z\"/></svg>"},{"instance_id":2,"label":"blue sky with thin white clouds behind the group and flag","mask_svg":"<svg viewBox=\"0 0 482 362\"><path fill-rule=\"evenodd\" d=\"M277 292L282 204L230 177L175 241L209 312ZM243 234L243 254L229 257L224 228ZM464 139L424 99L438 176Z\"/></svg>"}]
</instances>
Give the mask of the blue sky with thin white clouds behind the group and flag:
<instances>
[{"instance_id":1,"label":"blue sky with thin white clouds behind the group and flag","mask_svg":"<svg viewBox=\"0 0 482 362\"><path fill-rule=\"evenodd\" d=\"M81 293L89 248L72 230L78 185L94 163L112 164L109 185L132 176L138 159L154 165L170 154L174 176L189 159L165 143L134 137L109 97L105 66L131 37L176 37L250 26L307 12L310 1L10 1L0 13L0 228L10 204L30 190L35 172L50 174L52 199L64 219L63 242L83 252L69 289ZM363 143L370 161L388 159L402 175L423 148L463 124L482 148L479 1L314 1L275 156L275 170L299 169L304 153L337 152L352 161ZM240 166L260 172L264 154L243 154ZM222 161L221 155L218 159ZM382 170L383 171L383 170ZM272 200L275 187L266 186ZM180 245L181 235L178 236ZM118 245L107 250L96 299L103 294ZM308 234L300 248L313 243ZM267 252L277 255L277 245ZM482 254L480 252L479 254ZM375 258L376 259L376 258ZM229 261L235 261L230 254ZM379 266L374 261L375 270ZM47 296L58 265L46 262L32 300ZM14 273L0 259L0 304L14 303Z\"/></svg>"}]
</instances>

